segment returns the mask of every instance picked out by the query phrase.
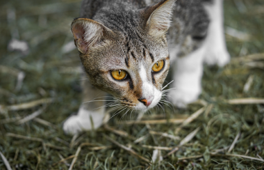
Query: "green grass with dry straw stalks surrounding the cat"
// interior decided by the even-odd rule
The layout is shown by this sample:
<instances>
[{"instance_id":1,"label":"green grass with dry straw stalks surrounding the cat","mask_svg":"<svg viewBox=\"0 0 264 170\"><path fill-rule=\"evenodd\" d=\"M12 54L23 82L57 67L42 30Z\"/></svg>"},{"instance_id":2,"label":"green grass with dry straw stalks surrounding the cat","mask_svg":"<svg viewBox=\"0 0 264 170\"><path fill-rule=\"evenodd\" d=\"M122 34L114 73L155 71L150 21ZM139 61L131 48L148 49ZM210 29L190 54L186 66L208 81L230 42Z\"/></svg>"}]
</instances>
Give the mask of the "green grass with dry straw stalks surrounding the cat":
<instances>
[{"instance_id":1,"label":"green grass with dry straw stalks surrounding the cat","mask_svg":"<svg viewBox=\"0 0 264 170\"><path fill-rule=\"evenodd\" d=\"M81 74L76 49L63 46L72 42L80 3L0 2L0 169L264 169L262 0L225 1L232 61L205 67L200 101L165 105L134 124L135 115L117 116L71 137L62 122L81 103ZM28 42L29 51L8 51L12 38ZM231 105L241 98L247 101ZM154 153L163 160L151 163Z\"/></svg>"}]
</instances>

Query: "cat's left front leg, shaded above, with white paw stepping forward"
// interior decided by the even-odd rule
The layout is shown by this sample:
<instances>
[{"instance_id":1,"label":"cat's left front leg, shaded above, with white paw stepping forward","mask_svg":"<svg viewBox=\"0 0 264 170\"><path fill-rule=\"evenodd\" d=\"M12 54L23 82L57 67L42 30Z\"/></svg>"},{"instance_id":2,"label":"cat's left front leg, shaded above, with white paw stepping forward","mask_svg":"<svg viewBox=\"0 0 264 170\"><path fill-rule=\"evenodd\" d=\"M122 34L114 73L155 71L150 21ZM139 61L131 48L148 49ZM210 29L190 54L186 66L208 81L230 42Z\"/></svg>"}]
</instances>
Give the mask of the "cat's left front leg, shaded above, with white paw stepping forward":
<instances>
[{"instance_id":1,"label":"cat's left front leg, shaded above, with white paw stepping forward","mask_svg":"<svg viewBox=\"0 0 264 170\"><path fill-rule=\"evenodd\" d=\"M66 134L76 134L84 130L100 127L105 116L104 98L106 93L94 88L88 80L83 80L83 104L78 114L72 115L63 123Z\"/></svg>"}]
</instances>

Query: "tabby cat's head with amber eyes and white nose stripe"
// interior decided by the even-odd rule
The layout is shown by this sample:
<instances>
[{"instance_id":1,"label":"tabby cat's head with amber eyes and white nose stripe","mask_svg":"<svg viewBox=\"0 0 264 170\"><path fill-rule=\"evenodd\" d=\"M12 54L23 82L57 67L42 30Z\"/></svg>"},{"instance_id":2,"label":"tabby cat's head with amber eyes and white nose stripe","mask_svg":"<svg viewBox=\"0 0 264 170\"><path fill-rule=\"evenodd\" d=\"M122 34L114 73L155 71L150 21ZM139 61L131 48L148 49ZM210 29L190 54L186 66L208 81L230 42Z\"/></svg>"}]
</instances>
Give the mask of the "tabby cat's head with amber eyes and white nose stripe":
<instances>
[{"instance_id":1,"label":"tabby cat's head with amber eyes and white nose stripe","mask_svg":"<svg viewBox=\"0 0 264 170\"><path fill-rule=\"evenodd\" d=\"M119 12L103 8L94 20L74 20L74 42L90 83L131 109L156 106L170 68L165 33L173 4Z\"/></svg>"}]
</instances>

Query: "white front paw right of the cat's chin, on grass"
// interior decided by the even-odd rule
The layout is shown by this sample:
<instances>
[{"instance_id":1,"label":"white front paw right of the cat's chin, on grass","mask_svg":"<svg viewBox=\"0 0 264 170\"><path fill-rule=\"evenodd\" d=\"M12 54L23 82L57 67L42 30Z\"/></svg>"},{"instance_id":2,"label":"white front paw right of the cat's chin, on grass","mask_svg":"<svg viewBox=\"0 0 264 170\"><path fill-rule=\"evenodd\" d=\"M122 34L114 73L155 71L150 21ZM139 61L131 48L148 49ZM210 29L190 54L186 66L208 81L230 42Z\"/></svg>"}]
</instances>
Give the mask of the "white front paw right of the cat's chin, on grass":
<instances>
[{"instance_id":1,"label":"white front paw right of the cat's chin, on grass","mask_svg":"<svg viewBox=\"0 0 264 170\"><path fill-rule=\"evenodd\" d=\"M197 98L199 97L201 93L201 90L197 91L180 91L180 90L175 90L175 91L170 91L168 95L170 98L170 102L176 107L179 108L185 108L186 105L188 105L191 102L195 102Z\"/></svg>"}]
</instances>

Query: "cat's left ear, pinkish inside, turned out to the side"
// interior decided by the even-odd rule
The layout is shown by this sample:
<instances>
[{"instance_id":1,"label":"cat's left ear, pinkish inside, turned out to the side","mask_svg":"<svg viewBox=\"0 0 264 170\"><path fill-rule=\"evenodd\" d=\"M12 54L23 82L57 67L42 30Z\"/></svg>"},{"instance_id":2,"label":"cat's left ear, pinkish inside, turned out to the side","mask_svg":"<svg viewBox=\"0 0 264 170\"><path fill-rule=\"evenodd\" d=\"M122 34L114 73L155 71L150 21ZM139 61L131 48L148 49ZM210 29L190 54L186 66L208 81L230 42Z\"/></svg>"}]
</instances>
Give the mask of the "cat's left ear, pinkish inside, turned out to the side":
<instances>
[{"instance_id":1,"label":"cat's left ear, pinkish inside, turned out to the side","mask_svg":"<svg viewBox=\"0 0 264 170\"><path fill-rule=\"evenodd\" d=\"M79 52L87 54L90 47L103 45L113 31L94 20L78 18L72 22L72 34Z\"/></svg>"}]
</instances>

